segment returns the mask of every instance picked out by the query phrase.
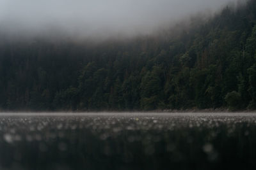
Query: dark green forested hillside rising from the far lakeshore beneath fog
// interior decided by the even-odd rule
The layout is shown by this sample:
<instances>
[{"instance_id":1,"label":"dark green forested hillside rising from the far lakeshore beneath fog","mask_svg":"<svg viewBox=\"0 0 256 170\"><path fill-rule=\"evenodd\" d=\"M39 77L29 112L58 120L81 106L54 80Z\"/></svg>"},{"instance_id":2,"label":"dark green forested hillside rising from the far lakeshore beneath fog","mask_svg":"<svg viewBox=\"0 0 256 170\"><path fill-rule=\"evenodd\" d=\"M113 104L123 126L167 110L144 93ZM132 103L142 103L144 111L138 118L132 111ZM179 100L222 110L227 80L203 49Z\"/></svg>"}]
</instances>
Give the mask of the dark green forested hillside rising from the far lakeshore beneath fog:
<instances>
[{"instance_id":1,"label":"dark green forested hillside rising from the far lakeshore beneath fog","mask_svg":"<svg viewBox=\"0 0 256 170\"><path fill-rule=\"evenodd\" d=\"M95 44L1 32L0 110L255 109L256 1L184 25Z\"/></svg>"}]
</instances>

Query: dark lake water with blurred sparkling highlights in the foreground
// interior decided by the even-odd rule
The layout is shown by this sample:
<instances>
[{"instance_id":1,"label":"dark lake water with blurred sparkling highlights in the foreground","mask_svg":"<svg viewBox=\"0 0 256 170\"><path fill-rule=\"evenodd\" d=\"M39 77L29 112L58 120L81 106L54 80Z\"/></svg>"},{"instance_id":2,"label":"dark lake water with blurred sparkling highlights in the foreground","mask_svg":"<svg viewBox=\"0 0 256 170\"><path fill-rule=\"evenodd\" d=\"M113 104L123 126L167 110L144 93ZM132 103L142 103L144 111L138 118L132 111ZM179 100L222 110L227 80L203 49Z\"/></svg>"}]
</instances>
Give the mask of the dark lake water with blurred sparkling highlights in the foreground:
<instances>
[{"instance_id":1,"label":"dark lake water with blurred sparkling highlights in the foreground","mask_svg":"<svg viewBox=\"0 0 256 170\"><path fill-rule=\"evenodd\" d=\"M0 169L256 169L256 114L2 114Z\"/></svg>"}]
</instances>

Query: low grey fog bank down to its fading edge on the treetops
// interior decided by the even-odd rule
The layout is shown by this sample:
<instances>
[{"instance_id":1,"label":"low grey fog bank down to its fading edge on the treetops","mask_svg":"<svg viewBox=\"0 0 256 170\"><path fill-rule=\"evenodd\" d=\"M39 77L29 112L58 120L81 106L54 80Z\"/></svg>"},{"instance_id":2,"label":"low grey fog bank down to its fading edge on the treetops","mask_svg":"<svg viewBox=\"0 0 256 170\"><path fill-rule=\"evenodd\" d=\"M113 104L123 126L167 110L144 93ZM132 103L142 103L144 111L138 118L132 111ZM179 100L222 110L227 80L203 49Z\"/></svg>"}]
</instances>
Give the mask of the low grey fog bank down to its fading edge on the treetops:
<instances>
[{"instance_id":1,"label":"low grey fog bank down to its fading edge on the treetops","mask_svg":"<svg viewBox=\"0 0 256 170\"><path fill-rule=\"evenodd\" d=\"M2 38L23 40L39 37L99 41L159 36L202 24L225 6L236 9L244 2L246 0L1 0L0 32Z\"/></svg>"}]
</instances>

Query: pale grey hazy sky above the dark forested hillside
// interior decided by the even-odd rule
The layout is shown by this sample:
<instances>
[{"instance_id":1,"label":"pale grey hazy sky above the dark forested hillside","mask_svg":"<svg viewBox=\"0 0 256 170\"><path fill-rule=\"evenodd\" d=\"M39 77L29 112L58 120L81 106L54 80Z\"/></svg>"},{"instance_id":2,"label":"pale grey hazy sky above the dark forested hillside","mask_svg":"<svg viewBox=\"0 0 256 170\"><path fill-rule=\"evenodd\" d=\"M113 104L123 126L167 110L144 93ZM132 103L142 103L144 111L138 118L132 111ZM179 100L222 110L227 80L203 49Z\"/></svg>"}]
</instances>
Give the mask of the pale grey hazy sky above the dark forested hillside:
<instances>
[{"instance_id":1,"label":"pale grey hazy sky above the dark forested hillside","mask_svg":"<svg viewBox=\"0 0 256 170\"><path fill-rule=\"evenodd\" d=\"M198 11L236 0L0 0L0 27L68 34L148 33Z\"/></svg>"}]
</instances>

